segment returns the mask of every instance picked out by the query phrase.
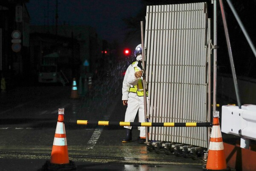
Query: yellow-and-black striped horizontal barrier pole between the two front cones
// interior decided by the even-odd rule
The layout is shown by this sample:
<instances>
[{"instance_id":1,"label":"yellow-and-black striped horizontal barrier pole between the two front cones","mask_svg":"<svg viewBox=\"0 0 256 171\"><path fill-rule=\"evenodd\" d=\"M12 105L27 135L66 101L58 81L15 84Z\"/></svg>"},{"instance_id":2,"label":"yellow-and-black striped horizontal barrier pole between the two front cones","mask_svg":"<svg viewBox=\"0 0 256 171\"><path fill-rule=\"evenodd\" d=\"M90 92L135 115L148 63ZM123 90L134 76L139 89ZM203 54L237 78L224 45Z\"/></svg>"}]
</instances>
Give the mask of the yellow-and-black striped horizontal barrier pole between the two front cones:
<instances>
[{"instance_id":1,"label":"yellow-and-black striped horizontal barrier pole between the two front cones","mask_svg":"<svg viewBox=\"0 0 256 171\"><path fill-rule=\"evenodd\" d=\"M98 125L98 126L164 126L164 127L211 127L211 122L185 122L185 123L175 123L175 122L116 122L116 121L87 121L87 120L77 120L70 121L70 123L76 123L78 125Z\"/></svg>"}]
</instances>

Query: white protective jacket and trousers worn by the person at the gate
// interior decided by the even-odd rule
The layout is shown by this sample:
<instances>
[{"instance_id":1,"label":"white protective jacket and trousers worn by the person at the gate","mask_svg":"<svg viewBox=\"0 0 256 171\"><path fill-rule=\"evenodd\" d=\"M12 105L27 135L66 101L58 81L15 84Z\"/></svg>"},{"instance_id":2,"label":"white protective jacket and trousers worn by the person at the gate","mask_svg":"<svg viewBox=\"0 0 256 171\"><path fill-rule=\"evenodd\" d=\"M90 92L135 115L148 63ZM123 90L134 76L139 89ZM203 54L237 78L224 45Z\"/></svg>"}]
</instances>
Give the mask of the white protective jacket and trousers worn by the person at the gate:
<instances>
[{"instance_id":1,"label":"white protective jacket and trousers worn by the person at the gate","mask_svg":"<svg viewBox=\"0 0 256 171\"><path fill-rule=\"evenodd\" d=\"M137 85L140 78L134 76L134 67L137 67L138 62L129 65L126 70L122 86L122 100L128 100L128 106L125 112L125 122L134 122L138 111L139 122L145 122L144 114L144 97L138 96L137 93L130 92L132 86ZM143 79L141 77L141 79ZM124 126L124 128L131 129L131 126ZM140 137L145 137L145 127L140 126Z\"/></svg>"}]
</instances>

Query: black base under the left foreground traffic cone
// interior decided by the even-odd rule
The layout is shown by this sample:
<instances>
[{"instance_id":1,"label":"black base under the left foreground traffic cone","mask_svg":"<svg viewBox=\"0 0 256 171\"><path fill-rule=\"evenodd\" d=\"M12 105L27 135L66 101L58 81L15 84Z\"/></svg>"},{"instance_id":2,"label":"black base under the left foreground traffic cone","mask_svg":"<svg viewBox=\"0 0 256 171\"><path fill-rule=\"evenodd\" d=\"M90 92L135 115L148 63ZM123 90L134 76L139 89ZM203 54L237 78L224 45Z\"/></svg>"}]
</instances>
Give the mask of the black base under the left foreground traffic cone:
<instances>
[{"instance_id":1,"label":"black base under the left foreground traffic cone","mask_svg":"<svg viewBox=\"0 0 256 171\"><path fill-rule=\"evenodd\" d=\"M42 171L71 171L76 170L76 165L70 160L67 164L52 164L49 160L42 166Z\"/></svg>"}]
</instances>

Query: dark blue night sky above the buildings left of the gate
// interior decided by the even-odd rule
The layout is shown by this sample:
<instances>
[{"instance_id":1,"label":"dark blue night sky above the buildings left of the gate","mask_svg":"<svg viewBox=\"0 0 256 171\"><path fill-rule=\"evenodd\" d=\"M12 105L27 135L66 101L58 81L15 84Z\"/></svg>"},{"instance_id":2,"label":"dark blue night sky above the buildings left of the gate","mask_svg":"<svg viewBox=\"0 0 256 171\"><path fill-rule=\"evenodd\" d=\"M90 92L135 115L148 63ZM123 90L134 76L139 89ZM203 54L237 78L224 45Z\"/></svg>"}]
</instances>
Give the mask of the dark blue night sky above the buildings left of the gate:
<instances>
[{"instance_id":1,"label":"dark blue night sky above the buildings left of the gate","mask_svg":"<svg viewBox=\"0 0 256 171\"><path fill-rule=\"evenodd\" d=\"M26 5L31 25L55 25L56 0L30 0ZM135 16L141 7L140 0L58 0L58 24L89 25L102 39L122 42L122 18Z\"/></svg>"}]
</instances>

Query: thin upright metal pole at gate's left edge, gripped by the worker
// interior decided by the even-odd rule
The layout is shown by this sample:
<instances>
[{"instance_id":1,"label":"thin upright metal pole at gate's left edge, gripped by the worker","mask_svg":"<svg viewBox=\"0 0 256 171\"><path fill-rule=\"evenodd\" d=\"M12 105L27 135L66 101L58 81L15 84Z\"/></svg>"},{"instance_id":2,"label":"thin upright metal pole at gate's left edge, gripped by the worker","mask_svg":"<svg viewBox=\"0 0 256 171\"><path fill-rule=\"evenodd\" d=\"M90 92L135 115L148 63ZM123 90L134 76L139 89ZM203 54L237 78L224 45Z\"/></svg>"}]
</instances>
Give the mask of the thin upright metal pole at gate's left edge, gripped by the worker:
<instances>
[{"instance_id":1,"label":"thin upright metal pole at gate's left edge, gripped by the worker","mask_svg":"<svg viewBox=\"0 0 256 171\"><path fill-rule=\"evenodd\" d=\"M140 29L141 29L141 51L142 51L142 70L143 70L143 94L144 94L144 114L145 114L145 122L148 122L147 118L147 96L146 96L146 77L145 77L145 55L144 55L144 33L143 33L143 21L140 21ZM148 127L145 127L146 132L146 143L148 143Z\"/></svg>"}]
</instances>

